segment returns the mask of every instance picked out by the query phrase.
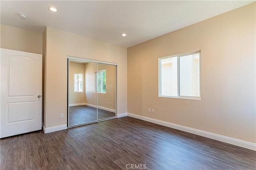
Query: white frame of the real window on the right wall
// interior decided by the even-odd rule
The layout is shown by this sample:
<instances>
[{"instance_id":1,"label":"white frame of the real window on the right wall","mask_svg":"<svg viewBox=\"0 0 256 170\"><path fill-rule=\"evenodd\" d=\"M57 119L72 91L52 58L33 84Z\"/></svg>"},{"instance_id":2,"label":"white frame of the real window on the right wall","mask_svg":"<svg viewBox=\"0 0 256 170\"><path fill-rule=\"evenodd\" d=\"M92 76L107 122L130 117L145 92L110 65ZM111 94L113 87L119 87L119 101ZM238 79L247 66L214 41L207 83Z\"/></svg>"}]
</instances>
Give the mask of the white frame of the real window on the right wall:
<instances>
[{"instance_id":1,"label":"white frame of the real window on the right wall","mask_svg":"<svg viewBox=\"0 0 256 170\"><path fill-rule=\"evenodd\" d=\"M200 96L180 96L180 57L184 57L187 55L193 55L193 54L198 54L199 53L199 94ZM178 73L178 96L162 96L162 92L161 92L161 80L162 80L162 73L161 73L161 60L162 59L167 59L167 58L172 58L172 57L177 57L177 73ZM179 54L179 55L172 55L172 56L167 56L167 57L161 57L158 58L158 97L164 97L164 98L181 98L181 99L194 99L194 100L201 100L202 99L202 94L201 94L202 90L201 90L201 51L194 51L194 52L190 52L190 53L183 53L183 54Z\"/></svg>"}]
</instances>

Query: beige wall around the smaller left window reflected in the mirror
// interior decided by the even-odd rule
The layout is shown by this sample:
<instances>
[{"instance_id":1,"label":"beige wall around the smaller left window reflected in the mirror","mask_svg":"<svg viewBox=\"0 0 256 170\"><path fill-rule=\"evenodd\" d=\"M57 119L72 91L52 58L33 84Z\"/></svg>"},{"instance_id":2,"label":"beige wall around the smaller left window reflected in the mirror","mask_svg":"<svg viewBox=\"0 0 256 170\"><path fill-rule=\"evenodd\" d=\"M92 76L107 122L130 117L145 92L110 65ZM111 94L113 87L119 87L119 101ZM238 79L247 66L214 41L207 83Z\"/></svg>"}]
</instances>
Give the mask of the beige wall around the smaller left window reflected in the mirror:
<instances>
[{"instance_id":1,"label":"beige wall around the smaller left window reflected in the mirror","mask_svg":"<svg viewBox=\"0 0 256 170\"><path fill-rule=\"evenodd\" d=\"M85 92L84 92L84 64L82 63L69 63L69 104L80 104L85 103ZM83 74L83 92L74 92L74 74Z\"/></svg>"}]
</instances>

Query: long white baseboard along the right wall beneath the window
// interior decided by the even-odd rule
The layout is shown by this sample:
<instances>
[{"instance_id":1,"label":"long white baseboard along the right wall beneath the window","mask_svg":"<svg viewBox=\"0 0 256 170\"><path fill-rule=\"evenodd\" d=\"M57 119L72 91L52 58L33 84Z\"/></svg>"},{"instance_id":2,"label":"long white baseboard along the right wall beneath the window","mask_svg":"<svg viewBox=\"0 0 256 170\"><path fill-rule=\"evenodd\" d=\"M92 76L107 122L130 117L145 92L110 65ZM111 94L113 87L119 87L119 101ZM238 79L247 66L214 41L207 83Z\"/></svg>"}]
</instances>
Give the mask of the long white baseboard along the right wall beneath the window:
<instances>
[{"instance_id":1,"label":"long white baseboard along the right wall beneath the window","mask_svg":"<svg viewBox=\"0 0 256 170\"><path fill-rule=\"evenodd\" d=\"M122 113L122 114L124 114L124 113ZM149 117L140 116L140 115L136 115L136 114L132 114L132 113L127 113L127 116L134 117L134 118L137 118L137 119L141 119L141 120L144 120L144 121L149 121L149 122L156 123L158 125L163 125L163 126L166 126L166 127L170 127L170 128L173 128L173 129L178 129L180 131L185 131L185 132L192 133L192 134L195 134L195 135L199 135L199 136L202 136L202 137L207 137L207 138L210 138L210 139L214 139L216 141L229 143L229 144L232 144L232 145L236 145L238 147L243 147L243 148L250 149L250 150L256 150L256 143L242 141L240 139L235 139L235 138L232 138L232 137L226 137L226 136L223 136L223 135L218 135L218 134L215 134L215 133L210 133L210 132L202 131L202 130L199 130L199 129L194 129L194 128L190 128L190 127L186 127L186 126L182 126L182 125L177 125L177 124L174 124L174 123L169 123L169 122L166 122L166 121L152 119L152 118L149 118Z\"/></svg>"}]
</instances>

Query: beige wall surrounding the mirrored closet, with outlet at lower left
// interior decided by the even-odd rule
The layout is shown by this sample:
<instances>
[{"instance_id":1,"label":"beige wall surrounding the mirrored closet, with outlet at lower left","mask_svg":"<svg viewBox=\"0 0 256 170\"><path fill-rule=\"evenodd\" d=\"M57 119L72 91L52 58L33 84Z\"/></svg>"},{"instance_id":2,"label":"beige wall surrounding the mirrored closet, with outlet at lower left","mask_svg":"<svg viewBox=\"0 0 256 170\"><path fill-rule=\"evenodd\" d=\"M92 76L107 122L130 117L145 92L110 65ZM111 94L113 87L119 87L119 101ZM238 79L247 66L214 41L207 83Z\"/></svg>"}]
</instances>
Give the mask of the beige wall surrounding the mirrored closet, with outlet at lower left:
<instances>
[{"instance_id":1,"label":"beige wall surrounding the mirrored closet, with outlet at lower left","mask_svg":"<svg viewBox=\"0 0 256 170\"><path fill-rule=\"evenodd\" d=\"M67 123L67 56L117 63L117 113L126 113L127 49L52 27L46 30L44 126Z\"/></svg>"}]
</instances>

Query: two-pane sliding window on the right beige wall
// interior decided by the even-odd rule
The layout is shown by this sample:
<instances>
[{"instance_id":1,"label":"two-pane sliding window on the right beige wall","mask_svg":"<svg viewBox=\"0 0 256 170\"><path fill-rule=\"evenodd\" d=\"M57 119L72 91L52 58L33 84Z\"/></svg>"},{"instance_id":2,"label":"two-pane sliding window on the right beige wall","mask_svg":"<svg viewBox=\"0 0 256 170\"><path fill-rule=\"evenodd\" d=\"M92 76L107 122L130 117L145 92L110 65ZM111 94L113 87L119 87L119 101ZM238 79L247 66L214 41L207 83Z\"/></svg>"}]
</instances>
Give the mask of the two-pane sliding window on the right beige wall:
<instances>
[{"instance_id":1,"label":"two-pane sliding window on the right beige wall","mask_svg":"<svg viewBox=\"0 0 256 170\"><path fill-rule=\"evenodd\" d=\"M201 98L200 51L163 57L159 64L159 96Z\"/></svg>"}]
</instances>

